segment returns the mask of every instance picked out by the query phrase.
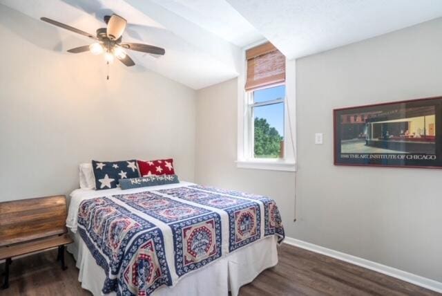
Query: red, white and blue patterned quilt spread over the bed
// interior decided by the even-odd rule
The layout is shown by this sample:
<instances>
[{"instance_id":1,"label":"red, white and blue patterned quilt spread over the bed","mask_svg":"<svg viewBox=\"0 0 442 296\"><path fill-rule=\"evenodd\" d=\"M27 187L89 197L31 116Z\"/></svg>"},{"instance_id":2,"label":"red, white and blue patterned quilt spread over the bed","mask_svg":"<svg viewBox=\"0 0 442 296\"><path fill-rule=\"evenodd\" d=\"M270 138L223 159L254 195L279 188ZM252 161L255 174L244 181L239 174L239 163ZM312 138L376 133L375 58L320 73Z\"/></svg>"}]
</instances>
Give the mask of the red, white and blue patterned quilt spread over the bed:
<instances>
[{"instance_id":1,"label":"red, white and blue patterned quilt spread over the bed","mask_svg":"<svg viewBox=\"0 0 442 296\"><path fill-rule=\"evenodd\" d=\"M140 296L263 237L284 239L273 199L200 185L82 201L78 231L106 272L102 292Z\"/></svg>"}]
</instances>

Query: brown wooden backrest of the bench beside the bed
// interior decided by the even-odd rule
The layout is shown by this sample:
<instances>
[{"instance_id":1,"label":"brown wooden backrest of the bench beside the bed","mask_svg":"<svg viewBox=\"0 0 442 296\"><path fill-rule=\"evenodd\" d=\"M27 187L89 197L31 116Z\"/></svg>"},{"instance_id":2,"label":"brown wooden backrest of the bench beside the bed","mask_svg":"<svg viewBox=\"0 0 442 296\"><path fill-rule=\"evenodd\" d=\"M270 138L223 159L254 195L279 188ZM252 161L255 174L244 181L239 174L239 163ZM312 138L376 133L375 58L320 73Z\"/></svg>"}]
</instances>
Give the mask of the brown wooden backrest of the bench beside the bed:
<instances>
[{"instance_id":1,"label":"brown wooden backrest of the bench beside the bed","mask_svg":"<svg viewBox=\"0 0 442 296\"><path fill-rule=\"evenodd\" d=\"M0 203L0 247L66 232L64 195Z\"/></svg>"}]
</instances>

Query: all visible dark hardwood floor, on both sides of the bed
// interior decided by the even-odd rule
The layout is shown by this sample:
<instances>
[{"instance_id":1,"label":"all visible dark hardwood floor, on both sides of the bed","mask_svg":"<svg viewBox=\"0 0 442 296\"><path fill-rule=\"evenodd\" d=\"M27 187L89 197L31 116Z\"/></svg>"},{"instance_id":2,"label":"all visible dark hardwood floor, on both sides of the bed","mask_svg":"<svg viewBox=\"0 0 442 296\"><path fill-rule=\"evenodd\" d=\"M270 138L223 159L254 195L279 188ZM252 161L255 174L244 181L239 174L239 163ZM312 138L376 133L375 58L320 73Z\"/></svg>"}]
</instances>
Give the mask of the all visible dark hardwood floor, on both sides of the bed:
<instances>
[{"instance_id":1,"label":"all visible dark hardwood floor, on both sides of the bed","mask_svg":"<svg viewBox=\"0 0 442 296\"><path fill-rule=\"evenodd\" d=\"M10 288L0 295L91 295L78 281L72 255L68 270L55 261L56 250L12 262ZM0 270L3 272L4 263ZM3 277L1 277L3 280ZM241 296L255 295L439 295L405 281L387 277L314 252L282 244L279 263L243 286Z\"/></svg>"}]
</instances>

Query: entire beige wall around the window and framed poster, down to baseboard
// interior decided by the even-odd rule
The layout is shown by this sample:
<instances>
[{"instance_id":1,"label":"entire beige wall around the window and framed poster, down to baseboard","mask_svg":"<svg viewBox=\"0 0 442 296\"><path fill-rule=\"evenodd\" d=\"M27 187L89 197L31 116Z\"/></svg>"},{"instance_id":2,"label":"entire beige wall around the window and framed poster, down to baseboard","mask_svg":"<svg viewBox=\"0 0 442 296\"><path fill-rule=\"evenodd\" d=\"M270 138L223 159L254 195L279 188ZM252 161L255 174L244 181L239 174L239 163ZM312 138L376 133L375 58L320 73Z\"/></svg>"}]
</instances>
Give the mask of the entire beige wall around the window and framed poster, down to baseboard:
<instances>
[{"instance_id":1,"label":"entire beige wall around the window and framed poster, down to baseboard","mask_svg":"<svg viewBox=\"0 0 442 296\"><path fill-rule=\"evenodd\" d=\"M295 174L237 169L236 81L198 91L195 179L276 199L289 237L442 281L442 171L333 165L332 109L442 94L442 19L297 61ZM324 133L324 144L314 134Z\"/></svg>"}]
</instances>

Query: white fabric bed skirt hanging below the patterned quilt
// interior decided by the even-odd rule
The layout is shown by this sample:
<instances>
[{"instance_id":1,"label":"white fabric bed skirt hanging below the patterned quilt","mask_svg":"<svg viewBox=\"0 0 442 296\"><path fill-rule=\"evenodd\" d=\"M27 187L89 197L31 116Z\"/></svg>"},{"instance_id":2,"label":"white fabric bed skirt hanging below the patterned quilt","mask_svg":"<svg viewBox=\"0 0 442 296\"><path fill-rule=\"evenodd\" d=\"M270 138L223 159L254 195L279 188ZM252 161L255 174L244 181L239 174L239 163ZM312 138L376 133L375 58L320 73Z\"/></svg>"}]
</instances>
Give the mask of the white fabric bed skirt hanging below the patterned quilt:
<instances>
[{"instance_id":1,"label":"white fabric bed skirt hanging below the patterned quilt","mask_svg":"<svg viewBox=\"0 0 442 296\"><path fill-rule=\"evenodd\" d=\"M103 295L103 268L95 263L94 257L78 233L74 235L74 241L68 246L68 251L77 260L81 287L90 290L95 296ZM241 286L253 281L262 270L278 263L276 241L276 236L271 236L251 243L204 268L184 275L173 287L158 288L153 295L226 296L231 291L231 295L236 296Z\"/></svg>"}]
</instances>

